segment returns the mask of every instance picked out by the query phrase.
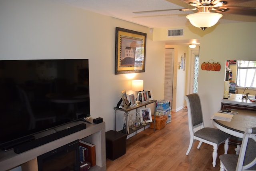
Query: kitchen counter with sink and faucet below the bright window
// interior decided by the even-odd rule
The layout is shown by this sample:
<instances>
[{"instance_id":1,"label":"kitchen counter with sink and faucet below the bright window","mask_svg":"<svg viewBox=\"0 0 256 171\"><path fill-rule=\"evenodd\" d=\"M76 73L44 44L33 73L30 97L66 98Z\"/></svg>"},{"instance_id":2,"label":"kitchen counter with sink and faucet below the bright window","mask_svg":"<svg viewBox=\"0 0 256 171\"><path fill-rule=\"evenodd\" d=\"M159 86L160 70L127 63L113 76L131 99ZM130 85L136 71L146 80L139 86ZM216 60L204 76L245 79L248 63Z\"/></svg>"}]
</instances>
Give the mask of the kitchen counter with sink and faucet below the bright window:
<instances>
[{"instance_id":1,"label":"kitchen counter with sink and faucet below the bright window","mask_svg":"<svg viewBox=\"0 0 256 171\"><path fill-rule=\"evenodd\" d=\"M256 102L250 99L242 99L242 94L229 94L228 99L221 100L221 109L236 108L236 109L252 109L256 110ZM255 98L253 95L248 95L248 98Z\"/></svg>"}]
</instances>

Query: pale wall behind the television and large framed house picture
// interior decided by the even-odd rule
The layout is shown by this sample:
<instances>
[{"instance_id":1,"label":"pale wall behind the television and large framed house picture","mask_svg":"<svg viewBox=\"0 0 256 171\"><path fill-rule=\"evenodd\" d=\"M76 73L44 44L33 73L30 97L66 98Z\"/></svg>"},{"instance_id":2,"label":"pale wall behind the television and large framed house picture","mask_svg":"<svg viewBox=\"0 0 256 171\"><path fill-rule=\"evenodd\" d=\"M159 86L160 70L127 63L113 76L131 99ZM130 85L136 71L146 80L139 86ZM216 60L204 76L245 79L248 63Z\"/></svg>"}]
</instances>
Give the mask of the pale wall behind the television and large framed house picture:
<instances>
[{"instance_id":1,"label":"pale wall behind the television and large framed house picture","mask_svg":"<svg viewBox=\"0 0 256 171\"><path fill-rule=\"evenodd\" d=\"M144 80L154 99L164 96L163 42L153 42L149 28L48 0L0 2L0 60L88 58L90 111L114 129L114 109L131 80ZM115 28L148 34L146 72L114 74ZM128 76L132 78L128 78ZM135 113L135 111L134 111ZM118 113L122 129L122 113Z\"/></svg>"}]
</instances>

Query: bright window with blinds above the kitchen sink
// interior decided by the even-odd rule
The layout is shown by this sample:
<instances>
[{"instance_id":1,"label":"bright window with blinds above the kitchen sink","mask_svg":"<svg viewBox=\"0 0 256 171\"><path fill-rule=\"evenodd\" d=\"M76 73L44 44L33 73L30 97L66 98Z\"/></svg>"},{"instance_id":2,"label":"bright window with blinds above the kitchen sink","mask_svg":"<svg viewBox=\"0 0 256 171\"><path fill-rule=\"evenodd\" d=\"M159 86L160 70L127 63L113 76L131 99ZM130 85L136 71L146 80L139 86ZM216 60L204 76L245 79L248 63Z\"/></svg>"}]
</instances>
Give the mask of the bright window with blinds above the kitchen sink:
<instances>
[{"instance_id":1,"label":"bright window with blinds above the kitchen sink","mask_svg":"<svg viewBox=\"0 0 256 171\"><path fill-rule=\"evenodd\" d=\"M256 61L237 61L236 84L238 87L256 88Z\"/></svg>"}]
</instances>

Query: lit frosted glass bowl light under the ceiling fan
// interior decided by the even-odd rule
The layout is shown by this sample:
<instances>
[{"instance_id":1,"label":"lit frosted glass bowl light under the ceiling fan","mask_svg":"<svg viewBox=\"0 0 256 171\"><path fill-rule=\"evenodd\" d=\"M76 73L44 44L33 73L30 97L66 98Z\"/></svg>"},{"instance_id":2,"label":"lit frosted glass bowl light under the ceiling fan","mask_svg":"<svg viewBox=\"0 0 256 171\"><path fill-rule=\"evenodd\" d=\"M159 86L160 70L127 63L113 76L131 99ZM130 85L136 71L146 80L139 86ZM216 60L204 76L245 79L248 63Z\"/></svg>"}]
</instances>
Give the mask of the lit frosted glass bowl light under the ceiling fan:
<instances>
[{"instance_id":1,"label":"lit frosted glass bowl light under the ceiling fan","mask_svg":"<svg viewBox=\"0 0 256 171\"><path fill-rule=\"evenodd\" d=\"M221 17L222 14L214 12L198 12L186 16L193 26L202 30L214 26Z\"/></svg>"}]
</instances>

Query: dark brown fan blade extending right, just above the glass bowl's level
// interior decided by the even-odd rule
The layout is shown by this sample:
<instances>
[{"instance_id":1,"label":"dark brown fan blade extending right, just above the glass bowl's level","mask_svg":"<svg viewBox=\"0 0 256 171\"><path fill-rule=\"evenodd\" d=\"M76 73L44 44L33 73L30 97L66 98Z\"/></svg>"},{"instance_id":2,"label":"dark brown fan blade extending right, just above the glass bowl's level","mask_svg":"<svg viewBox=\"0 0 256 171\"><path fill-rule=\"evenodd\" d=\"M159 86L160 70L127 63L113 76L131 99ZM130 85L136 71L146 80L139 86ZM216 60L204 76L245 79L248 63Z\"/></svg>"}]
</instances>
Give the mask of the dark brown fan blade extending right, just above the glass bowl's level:
<instances>
[{"instance_id":1,"label":"dark brown fan blade extending right, just above the glass bowl's level","mask_svg":"<svg viewBox=\"0 0 256 171\"><path fill-rule=\"evenodd\" d=\"M256 16L256 8L246 8L239 6L226 6L220 7L217 9L212 8L217 12L224 12L228 14L238 14L238 15L246 15L246 16Z\"/></svg>"}]
</instances>

